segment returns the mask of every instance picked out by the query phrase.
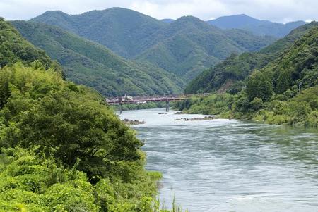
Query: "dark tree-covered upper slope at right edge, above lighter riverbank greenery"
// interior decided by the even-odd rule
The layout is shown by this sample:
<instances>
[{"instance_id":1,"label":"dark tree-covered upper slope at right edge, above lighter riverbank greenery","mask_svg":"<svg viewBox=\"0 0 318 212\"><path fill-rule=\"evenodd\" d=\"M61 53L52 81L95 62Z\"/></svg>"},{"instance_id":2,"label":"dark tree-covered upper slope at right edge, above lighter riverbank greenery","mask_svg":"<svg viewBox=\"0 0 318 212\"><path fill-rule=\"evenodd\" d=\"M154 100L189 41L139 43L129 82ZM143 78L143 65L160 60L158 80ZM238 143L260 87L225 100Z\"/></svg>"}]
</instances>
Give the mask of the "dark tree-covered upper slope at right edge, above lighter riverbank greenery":
<instances>
[{"instance_id":1,"label":"dark tree-covered upper slope at right edge, above lighter riverbank greenery","mask_svg":"<svg viewBox=\"0 0 318 212\"><path fill-rule=\"evenodd\" d=\"M269 75L275 94L287 95L290 92L300 92L300 88L318 86L318 25L307 30L281 56L260 71ZM254 99L251 94L259 97L257 89L260 88L249 86L251 78L252 76L247 82L247 92L251 92L249 98ZM317 102L314 104L318 107Z\"/></svg>"}]
</instances>

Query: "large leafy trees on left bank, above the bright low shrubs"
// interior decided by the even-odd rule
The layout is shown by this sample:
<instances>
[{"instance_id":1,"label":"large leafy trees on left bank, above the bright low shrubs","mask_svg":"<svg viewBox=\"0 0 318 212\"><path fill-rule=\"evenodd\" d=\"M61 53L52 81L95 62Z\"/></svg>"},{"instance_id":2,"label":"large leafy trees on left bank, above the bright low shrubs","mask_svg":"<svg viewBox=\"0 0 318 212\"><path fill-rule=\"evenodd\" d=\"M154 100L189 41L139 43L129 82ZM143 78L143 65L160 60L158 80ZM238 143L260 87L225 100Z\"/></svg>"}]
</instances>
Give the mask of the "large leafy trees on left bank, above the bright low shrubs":
<instances>
[{"instance_id":1,"label":"large leafy trees on left bank, above the bright low shrubs","mask_svg":"<svg viewBox=\"0 0 318 212\"><path fill-rule=\"evenodd\" d=\"M142 143L90 89L65 82L52 70L23 65L1 71L0 79L11 84L4 93L12 93L0 111L6 125L0 147L37 146L90 179L105 177L119 162L139 160Z\"/></svg>"}]
</instances>

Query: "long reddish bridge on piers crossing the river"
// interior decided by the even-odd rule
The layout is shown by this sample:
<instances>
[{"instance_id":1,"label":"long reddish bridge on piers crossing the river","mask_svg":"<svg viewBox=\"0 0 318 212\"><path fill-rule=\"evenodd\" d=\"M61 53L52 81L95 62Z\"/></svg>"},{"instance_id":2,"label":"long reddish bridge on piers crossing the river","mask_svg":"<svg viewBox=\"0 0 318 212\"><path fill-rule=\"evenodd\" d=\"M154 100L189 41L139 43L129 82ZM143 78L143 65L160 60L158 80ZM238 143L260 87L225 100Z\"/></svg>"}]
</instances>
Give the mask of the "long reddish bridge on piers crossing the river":
<instances>
[{"instance_id":1,"label":"long reddish bridge on piers crossing the river","mask_svg":"<svg viewBox=\"0 0 318 212\"><path fill-rule=\"evenodd\" d=\"M189 99L189 96L134 96L133 98L122 97L114 99L106 99L107 104L119 104L119 112L122 114L123 104L139 104L146 102L159 102L165 101L165 111L169 112L170 101L182 101L184 99Z\"/></svg>"}]
</instances>

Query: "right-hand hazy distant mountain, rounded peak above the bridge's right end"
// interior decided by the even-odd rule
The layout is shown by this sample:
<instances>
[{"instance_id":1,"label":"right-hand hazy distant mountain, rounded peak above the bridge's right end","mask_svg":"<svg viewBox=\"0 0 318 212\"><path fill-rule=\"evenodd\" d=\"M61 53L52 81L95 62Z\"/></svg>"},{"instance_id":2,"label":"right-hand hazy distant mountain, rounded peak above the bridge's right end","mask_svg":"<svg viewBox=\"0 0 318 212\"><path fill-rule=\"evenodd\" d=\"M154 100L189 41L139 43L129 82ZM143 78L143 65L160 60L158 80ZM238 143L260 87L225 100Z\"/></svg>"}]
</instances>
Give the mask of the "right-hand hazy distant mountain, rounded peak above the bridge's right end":
<instances>
[{"instance_id":1,"label":"right-hand hazy distant mountain, rounded peak above the bridge's right end","mask_svg":"<svg viewBox=\"0 0 318 212\"><path fill-rule=\"evenodd\" d=\"M137 59L182 76L186 81L196 77L232 53L255 51L271 44L272 37L258 37L242 30L223 31L192 16L170 23L158 32L156 45Z\"/></svg>"}]
</instances>

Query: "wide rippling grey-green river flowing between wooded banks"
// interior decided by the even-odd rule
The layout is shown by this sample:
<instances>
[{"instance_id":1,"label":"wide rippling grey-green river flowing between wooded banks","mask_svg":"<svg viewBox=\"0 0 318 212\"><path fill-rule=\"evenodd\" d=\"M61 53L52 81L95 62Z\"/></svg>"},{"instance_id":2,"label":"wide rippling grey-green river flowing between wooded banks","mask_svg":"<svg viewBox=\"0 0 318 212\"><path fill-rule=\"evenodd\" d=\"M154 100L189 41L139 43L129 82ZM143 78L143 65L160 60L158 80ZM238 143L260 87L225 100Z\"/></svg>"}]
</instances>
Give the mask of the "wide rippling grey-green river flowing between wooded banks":
<instances>
[{"instance_id":1,"label":"wide rippling grey-green river flowing between wooded banks","mask_svg":"<svg viewBox=\"0 0 318 212\"><path fill-rule=\"evenodd\" d=\"M133 127L167 208L175 195L191 212L318 211L318 130L161 112L120 117L146 121Z\"/></svg>"}]
</instances>

